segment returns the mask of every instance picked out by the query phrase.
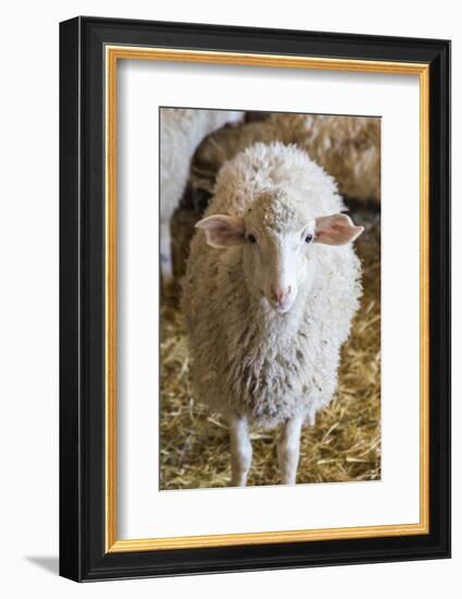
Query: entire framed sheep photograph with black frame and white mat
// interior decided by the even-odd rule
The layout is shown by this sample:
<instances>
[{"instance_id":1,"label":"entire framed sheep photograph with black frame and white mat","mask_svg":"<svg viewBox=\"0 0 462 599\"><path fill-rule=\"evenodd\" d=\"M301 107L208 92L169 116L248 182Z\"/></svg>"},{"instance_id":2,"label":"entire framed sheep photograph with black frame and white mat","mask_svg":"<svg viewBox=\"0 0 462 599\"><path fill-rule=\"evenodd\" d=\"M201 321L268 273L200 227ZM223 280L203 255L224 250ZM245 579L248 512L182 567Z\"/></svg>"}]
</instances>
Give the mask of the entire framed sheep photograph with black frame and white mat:
<instances>
[{"instance_id":1,"label":"entire framed sheep photograph with black frame and white mat","mask_svg":"<svg viewBox=\"0 0 462 599\"><path fill-rule=\"evenodd\" d=\"M60 572L450 554L450 42L60 26Z\"/></svg>"}]
</instances>

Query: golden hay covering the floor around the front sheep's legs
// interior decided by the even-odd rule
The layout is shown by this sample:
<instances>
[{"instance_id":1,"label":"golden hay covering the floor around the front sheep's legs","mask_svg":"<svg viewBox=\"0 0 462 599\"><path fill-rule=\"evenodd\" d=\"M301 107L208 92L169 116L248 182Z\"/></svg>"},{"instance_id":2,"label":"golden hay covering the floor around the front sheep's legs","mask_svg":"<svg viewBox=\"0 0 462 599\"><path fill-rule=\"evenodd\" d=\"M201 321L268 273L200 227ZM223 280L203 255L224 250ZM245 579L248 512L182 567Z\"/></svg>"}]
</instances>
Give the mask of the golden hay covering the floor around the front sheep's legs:
<instances>
[{"instance_id":1,"label":"golden hay covering the floor around the front sheep's legs","mask_svg":"<svg viewBox=\"0 0 462 599\"><path fill-rule=\"evenodd\" d=\"M184 243L197 210L179 210L173 227ZM297 482L342 482L380 478L380 220L352 212L366 227L356 243L363 261L364 295L342 351L339 386L331 404L305 428ZM180 223L180 224L179 224ZM179 252L179 248L177 247ZM178 264L178 262L177 262ZM180 268L181 270L181 268ZM230 479L227 425L191 395L189 353L178 298L161 305L160 488L224 487ZM254 459L248 485L279 482L277 431L252 433Z\"/></svg>"}]
</instances>

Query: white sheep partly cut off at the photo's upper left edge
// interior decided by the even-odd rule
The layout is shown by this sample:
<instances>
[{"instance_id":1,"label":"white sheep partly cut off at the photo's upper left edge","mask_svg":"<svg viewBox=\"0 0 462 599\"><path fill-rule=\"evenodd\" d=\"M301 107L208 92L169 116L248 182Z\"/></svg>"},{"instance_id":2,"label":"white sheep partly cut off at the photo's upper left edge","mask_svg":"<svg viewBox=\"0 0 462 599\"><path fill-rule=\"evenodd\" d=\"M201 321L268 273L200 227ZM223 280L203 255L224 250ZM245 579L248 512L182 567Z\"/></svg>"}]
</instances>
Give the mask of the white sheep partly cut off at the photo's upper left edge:
<instances>
[{"instance_id":1,"label":"white sheep partly cut off at the photo's upper left edge","mask_svg":"<svg viewBox=\"0 0 462 599\"><path fill-rule=\"evenodd\" d=\"M160 109L160 259L166 286L173 279L170 219L184 193L194 150L206 135L242 115L230 110Z\"/></svg>"}]
</instances>

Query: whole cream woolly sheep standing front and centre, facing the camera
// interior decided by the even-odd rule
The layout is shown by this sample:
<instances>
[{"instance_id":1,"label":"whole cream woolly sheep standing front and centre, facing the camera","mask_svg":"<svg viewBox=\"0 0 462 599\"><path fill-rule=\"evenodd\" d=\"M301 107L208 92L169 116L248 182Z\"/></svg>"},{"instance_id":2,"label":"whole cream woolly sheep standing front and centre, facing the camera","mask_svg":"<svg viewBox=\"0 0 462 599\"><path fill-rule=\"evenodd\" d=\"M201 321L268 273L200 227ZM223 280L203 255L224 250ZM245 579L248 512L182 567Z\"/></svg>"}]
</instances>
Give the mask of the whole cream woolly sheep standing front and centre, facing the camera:
<instances>
[{"instance_id":1,"label":"whole cream woolly sheep standing front and centre, facing the camera","mask_svg":"<svg viewBox=\"0 0 462 599\"><path fill-rule=\"evenodd\" d=\"M182 309L193 393L229 424L231 486L245 486L250 427L282 425L281 481L293 485L305 424L328 405L362 294L335 180L305 151L256 144L220 170L196 223Z\"/></svg>"}]
</instances>

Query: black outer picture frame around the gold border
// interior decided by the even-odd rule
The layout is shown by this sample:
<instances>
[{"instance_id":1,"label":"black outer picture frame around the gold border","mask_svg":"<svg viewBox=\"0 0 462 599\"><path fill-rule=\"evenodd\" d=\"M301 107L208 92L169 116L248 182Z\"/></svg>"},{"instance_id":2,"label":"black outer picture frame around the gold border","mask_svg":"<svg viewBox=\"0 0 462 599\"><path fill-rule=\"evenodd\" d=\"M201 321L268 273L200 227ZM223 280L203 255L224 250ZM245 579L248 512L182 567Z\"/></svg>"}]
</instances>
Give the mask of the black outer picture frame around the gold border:
<instances>
[{"instance_id":1,"label":"black outer picture frame around the gold border","mask_svg":"<svg viewBox=\"0 0 462 599\"><path fill-rule=\"evenodd\" d=\"M108 44L429 65L429 534L108 553L105 113ZM450 557L450 42L80 16L60 24L60 574L74 580Z\"/></svg>"}]
</instances>

